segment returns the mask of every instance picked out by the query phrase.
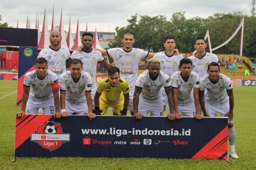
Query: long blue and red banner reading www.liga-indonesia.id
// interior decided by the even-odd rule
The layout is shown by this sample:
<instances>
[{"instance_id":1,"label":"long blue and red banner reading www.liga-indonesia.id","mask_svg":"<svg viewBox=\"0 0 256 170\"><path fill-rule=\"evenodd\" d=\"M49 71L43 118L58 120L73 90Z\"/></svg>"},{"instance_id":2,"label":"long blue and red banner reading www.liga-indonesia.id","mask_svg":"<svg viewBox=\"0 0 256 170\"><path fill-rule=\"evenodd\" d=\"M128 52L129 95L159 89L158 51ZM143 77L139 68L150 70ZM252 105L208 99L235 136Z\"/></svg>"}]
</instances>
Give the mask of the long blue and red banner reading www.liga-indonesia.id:
<instances>
[{"instance_id":1,"label":"long blue and red banner reading www.liga-indonesia.id","mask_svg":"<svg viewBox=\"0 0 256 170\"><path fill-rule=\"evenodd\" d=\"M15 157L227 159L226 117L25 115L16 118Z\"/></svg>"}]
</instances>

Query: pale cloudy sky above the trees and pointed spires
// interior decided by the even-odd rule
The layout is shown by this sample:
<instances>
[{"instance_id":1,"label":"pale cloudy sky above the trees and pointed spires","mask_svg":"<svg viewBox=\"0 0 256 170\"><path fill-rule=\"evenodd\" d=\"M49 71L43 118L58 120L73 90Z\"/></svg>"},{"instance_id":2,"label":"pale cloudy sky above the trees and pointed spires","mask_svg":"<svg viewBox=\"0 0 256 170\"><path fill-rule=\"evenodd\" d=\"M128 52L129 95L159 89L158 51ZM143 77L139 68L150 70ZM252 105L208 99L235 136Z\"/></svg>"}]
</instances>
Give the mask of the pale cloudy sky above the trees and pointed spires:
<instances>
[{"instance_id":1,"label":"pale cloudy sky above the trees and pointed spires","mask_svg":"<svg viewBox=\"0 0 256 170\"><path fill-rule=\"evenodd\" d=\"M175 12L185 11L187 18L202 17L207 18L215 13L233 13L241 11L250 15L251 0L109 0L109 1L18 1L1 0L0 15L2 21L9 26L16 27L17 19L19 28L26 28L27 16L30 17L31 28L35 27L36 13L39 14L39 27L42 29L43 13L46 8L48 18L48 28L51 27L52 9L54 5L55 25L60 24L61 8L63 13L64 28L68 30L69 15L71 15L72 32L76 31L76 23L79 18L80 30L85 30L86 22L88 30L114 32L116 27L127 25L127 19L132 15L157 16L165 15L170 19Z\"/></svg>"}]
</instances>

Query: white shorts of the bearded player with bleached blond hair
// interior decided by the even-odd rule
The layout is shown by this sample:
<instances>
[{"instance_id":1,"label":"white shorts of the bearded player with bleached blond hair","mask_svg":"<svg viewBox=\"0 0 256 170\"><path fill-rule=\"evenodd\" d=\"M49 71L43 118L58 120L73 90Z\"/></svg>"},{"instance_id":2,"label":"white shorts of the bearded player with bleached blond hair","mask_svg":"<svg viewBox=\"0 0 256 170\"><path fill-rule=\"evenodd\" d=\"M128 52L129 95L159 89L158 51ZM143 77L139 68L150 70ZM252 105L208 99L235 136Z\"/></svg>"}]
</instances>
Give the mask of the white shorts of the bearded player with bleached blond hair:
<instances>
[{"instance_id":1,"label":"white shorts of the bearded player with bleached blond hair","mask_svg":"<svg viewBox=\"0 0 256 170\"><path fill-rule=\"evenodd\" d=\"M139 97L138 102L138 113L143 114L144 116L162 116L164 114L164 108L162 107L162 99L148 100L142 97Z\"/></svg>"}]
</instances>

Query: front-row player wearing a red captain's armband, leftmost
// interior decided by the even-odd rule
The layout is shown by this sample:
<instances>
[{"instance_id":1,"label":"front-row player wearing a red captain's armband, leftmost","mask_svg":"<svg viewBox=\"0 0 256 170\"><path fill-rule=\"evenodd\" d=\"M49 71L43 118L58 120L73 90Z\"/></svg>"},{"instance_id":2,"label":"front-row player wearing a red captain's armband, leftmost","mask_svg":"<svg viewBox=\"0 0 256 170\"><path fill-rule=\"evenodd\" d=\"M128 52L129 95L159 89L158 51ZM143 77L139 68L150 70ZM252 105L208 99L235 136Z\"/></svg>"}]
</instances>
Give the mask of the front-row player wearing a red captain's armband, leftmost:
<instances>
[{"instance_id":1,"label":"front-row player wearing a red captain's armband, leftmost","mask_svg":"<svg viewBox=\"0 0 256 170\"><path fill-rule=\"evenodd\" d=\"M27 106L27 114L37 114L39 108L42 108L45 114L54 114L56 118L60 118L57 75L47 70L48 66L45 58L38 58L34 68L34 71L27 72L25 75L21 111L16 116L22 117Z\"/></svg>"}]
</instances>

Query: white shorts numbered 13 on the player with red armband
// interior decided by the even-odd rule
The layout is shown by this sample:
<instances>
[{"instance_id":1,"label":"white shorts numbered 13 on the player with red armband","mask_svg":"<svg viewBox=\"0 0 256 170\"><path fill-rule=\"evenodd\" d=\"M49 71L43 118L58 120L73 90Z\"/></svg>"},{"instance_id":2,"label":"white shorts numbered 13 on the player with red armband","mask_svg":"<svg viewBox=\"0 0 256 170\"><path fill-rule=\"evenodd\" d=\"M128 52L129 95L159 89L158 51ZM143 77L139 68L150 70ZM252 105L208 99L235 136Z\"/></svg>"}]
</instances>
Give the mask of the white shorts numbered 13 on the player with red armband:
<instances>
[{"instance_id":1,"label":"white shorts numbered 13 on the player with red armband","mask_svg":"<svg viewBox=\"0 0 256 170\"><path fill-rule=\"evenodd\" d=\"M27 102L27 114L37 114L39 111L39 108L42 108L43 114L54 114L55 108L54 108L54 101L53 98L47 99L45 101L39 101L35 99L28 99Z\"/></svg>"}]
</instances>

